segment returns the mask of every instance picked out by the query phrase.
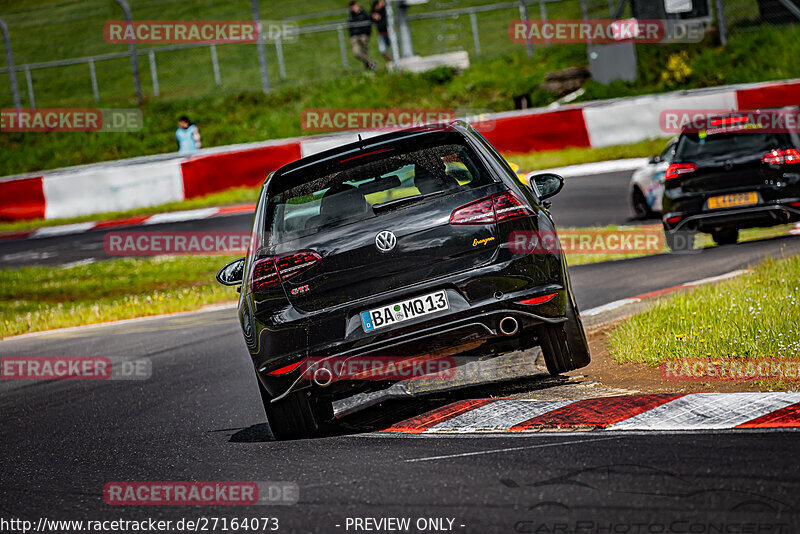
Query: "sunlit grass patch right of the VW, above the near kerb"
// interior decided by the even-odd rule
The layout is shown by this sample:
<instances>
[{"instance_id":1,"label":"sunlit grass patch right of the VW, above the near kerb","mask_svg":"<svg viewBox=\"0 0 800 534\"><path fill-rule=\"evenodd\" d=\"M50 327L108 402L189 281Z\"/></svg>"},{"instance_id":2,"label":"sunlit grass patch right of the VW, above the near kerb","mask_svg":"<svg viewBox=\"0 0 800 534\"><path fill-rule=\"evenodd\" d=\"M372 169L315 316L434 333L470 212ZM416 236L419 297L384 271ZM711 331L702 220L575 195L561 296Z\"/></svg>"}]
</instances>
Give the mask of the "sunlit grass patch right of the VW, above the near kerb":
<instances>
[{"instance_id":1,"label":"sunlit grass patch right of the VW, above the near kerb","mask_svg":"<svg viewBox=\"0 0 800 534\"><path fill-rule=\"evenodd\" d=\"M800 256L657 301L609 336L617 362L800 359Z\"/></svg>"}]
</instances>

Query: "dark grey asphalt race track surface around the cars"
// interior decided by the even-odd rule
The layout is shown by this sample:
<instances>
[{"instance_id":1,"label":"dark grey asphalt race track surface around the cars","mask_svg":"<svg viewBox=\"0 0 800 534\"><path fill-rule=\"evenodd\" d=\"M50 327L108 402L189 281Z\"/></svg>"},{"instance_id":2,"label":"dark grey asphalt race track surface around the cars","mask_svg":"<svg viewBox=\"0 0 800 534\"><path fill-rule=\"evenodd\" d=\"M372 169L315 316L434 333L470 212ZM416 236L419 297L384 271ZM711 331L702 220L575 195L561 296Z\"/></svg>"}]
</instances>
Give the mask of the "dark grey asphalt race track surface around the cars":
<instances>
[{"instance_id":1,"label":"dark grey asphalt race track surface around the cars","mask_svg":"<svg viewBox=\"0 0 800 534\"><path fill-rule=\"evenodd\" d=\"M626 223L626 196L615 191L627 190L628 176L568 180L552 208L557 222ZM597 188L608 198L601 201L592 197L593 189L587 194L579 188ZM571 201L573 195L593 201L583 206ZM210 229L204 224L246 230L249 217L174 227ZM99 259L95 251L98 242L102 251L102 237L94 234L4 242L0 257L4 265ZM5 259L26 250L51 255L39 261ZM800 239L787 237L570 272L579 305L588 309L730 272L764 256L798 253ZM449 518L452 531L471 533L800 531L797 432L424 437L375 432L453 400L493 393L483 388L392 401L353 416L350 432L274 442L230 308L22 336L0 341L0 355L152 363L147 380L0 382L3 516L34 521L277 517L279 532L296 533L355 532L346 528L347 518L354 517L410 517L412 524L418 518ZM287 481L298 484L299 503L105 504L106 483L136 480Z\"/></svg>"}]
</instances>

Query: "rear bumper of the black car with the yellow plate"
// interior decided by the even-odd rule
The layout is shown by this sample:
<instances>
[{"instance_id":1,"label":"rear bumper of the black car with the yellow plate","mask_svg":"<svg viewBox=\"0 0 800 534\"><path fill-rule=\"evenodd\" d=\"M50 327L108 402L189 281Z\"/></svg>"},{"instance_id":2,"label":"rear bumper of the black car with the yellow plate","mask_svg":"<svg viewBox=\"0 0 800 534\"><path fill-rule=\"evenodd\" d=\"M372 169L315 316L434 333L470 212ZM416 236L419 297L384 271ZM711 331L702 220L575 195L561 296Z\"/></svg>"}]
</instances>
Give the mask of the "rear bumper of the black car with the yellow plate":
<instances>
[{"instance_id":1,"label":"rear bumper of the black car with the yellow plate","mask_svg":"<svg viewBox=\"0 0 800 534\"><path fill-rule=\"evenodd\" d=\"M800 221L800 204L792 206L790 203L798 204L800 203L800 198L699 213L665 213L663 221L664 227L669 231L710 232L723 228L738 229L775 226ZM680 217L680 220L672 223L668 222L674 217Z\"/></svg>"}]
</instances>

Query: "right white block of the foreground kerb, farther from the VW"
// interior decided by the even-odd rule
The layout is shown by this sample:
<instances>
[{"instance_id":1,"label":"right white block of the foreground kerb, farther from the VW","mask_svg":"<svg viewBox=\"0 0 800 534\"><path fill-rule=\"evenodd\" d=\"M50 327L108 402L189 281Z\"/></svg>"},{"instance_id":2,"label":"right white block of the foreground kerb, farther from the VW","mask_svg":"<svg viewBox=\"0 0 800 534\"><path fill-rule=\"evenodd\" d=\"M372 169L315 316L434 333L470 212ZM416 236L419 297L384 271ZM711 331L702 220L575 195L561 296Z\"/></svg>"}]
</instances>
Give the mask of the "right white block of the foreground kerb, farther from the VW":
<instances>
[{"instance_id":1,"label":"right white block of the foreground kerb, farther from the VW","mask_svg":"<svg viewBox=\"0 0 800 534\"><path fill-rule=\"evenodd\" d=\"M720 430L800 402L800 393L695 393L635 415L607 430Z\"/></svg>"}]
</instances>

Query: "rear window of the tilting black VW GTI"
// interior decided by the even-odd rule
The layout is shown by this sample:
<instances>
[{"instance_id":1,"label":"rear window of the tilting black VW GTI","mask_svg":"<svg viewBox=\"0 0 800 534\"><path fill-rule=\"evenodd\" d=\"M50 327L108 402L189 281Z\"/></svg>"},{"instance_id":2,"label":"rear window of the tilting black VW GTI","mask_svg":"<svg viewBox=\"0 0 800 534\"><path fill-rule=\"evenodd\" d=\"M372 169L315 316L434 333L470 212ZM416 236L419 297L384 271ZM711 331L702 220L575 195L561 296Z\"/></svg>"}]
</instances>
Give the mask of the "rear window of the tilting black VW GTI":
<instances>
[{"instance_id":1,"label":"rear window of the tilting black VW GTI","mask_svg":"<svg viewBox=\"0 0 800 534\"><path fill-rule=\"evenodd\" d=\"M268 239L282 243L493 181L465 145L422 146L367 150L302 171L302 183L270 189Z\"/></svg>"}]
</instances>

